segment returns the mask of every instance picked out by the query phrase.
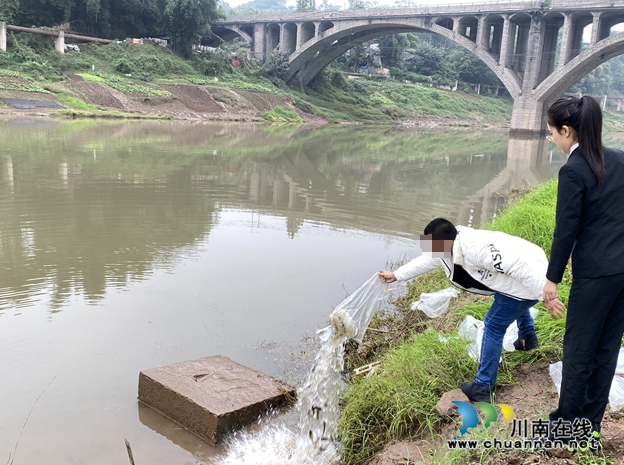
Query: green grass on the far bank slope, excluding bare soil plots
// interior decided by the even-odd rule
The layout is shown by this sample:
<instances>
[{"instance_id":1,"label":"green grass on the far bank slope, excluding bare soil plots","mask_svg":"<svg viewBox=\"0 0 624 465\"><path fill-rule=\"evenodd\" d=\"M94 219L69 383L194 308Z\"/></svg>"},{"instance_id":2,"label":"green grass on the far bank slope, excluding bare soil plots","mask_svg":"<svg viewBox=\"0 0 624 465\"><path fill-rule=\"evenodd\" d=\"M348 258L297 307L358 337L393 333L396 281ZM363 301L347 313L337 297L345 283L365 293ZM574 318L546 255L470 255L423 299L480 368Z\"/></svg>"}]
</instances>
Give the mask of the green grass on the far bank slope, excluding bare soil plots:
<instances>
[{"instance_id":1,"label":"green grass on the far bank slope, excluding bare soil plots","mask_svg":"<svg viewBox=\"0 0 624 465\"><path fill-rule=\"evenodd\" d=\"M321 72L310 87L288 86L283 81L264 77L264 67L253 62L232 67L228 54L214 53L184 60L165 47L154 45L87 44L81 47L81 53L60 55L45 38L11 32L8 55L10 60L0 60L0 89L45 92L43 84L26 84L16 78L63 81L67 73L75 73L87 81L106 83L130 96L169 99L171 93L160 90L158 83L185 79L212 89L280 94L291 98L299 109L328 121L368 124L430 117L442 125L499 124L509 120L512 108L509 98L468 95L391 79L348 81L330 69ZM142 73L150 76L152 85L139 83L137 78ZM7 78L16 82L7 83ZM238 103L236 96L225 93L214 92L214 98L228 106Z\"/></svg>"}]
</instances>

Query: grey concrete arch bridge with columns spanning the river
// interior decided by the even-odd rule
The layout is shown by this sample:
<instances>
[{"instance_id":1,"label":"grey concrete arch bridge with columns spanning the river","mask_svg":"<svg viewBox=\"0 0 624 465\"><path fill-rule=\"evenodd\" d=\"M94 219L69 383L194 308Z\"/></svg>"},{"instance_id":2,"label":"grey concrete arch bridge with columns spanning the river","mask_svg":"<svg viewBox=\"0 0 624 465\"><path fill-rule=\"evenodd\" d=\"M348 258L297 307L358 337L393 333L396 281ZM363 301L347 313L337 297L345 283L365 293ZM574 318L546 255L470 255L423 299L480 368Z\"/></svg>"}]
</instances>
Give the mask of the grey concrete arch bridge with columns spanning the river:
<instances>
[{"instance_id":1,"label":"grey concrete arch bridge with columns spanning the river","mask_svg":"<svg viewBox=\"0 0 624 465\"><path fill-rule=\"evenodd\" d=\"M230 16L212 31L226 41L242 37L261 61L279 44L290 54L287 80L305 85L355 45L404 32L439 34L500 78L514 99L512 132L531 134L545 130L549 102L624 53L624 32L611 34L622 22L624 0L545 0ZM591 40L583 49L586 27Z\"/></svg>"}]
</instances>

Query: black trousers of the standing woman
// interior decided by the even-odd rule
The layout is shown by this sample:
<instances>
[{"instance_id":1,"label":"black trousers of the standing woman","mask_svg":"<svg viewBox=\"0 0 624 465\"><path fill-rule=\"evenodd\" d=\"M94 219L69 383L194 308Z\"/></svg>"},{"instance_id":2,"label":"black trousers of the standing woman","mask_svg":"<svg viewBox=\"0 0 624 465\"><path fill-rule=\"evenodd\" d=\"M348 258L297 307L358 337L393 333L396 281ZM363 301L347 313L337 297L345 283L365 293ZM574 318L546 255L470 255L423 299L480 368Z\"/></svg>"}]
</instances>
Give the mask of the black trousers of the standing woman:
<instances>
[{"instance_id":1,"label":"black trousers of the standing woman","mask_svg":"<svg viewBox=\"0 0 624 465\"><path fill-rule=\"evenodd\" d=\"M559 407L550 414L587 418L600 432L624 333L624 273L573 279L563 339Z\"/></svg>"}]
</instances>

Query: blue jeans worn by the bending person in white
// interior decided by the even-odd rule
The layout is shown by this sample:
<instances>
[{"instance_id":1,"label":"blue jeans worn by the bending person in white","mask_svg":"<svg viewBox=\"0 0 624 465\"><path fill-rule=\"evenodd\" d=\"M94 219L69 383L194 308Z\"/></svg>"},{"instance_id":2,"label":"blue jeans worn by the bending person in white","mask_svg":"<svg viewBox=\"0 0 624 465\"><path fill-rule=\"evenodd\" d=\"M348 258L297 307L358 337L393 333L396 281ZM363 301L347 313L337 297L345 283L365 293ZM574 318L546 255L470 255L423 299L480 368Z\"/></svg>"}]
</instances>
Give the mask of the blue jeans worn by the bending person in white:
<instances>
[{"instance_id":1,"label":"blue jeans worn by the bending person in white","mask_svg":"<svg viewBox=\"0 0 624 465\"><path fill-rule=\"evenodd\" d=\"M517 300L498 292L494 303L485 315L481 359L475 384L494 386L498 373L498 362L503 350L503 337L510 324L518 322L518 335L521 338L535 331L535 324L529 309L537 300Z\"/></svg>"}]
</instances>

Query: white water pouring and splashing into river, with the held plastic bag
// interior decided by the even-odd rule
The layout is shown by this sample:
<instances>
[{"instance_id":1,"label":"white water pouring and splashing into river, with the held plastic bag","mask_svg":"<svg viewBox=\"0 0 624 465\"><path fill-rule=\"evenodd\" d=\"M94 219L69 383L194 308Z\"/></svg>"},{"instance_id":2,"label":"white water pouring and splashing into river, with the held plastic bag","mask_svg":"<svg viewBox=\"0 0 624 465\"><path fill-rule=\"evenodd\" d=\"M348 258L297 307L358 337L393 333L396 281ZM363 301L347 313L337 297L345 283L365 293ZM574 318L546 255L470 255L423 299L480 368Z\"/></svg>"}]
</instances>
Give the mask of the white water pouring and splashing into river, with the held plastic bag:
<instances>
[{"instance_id":1,"label":"white water pouring and splashing into river, with the held plastic bag","mask_svg":"<svg viewBox=\"0 0 624 465\"><path fill-rule=\"evenodd\" d=\"M373 275L329 316L330 326L318 331L321 348L306 382L298 391L299 433L268 426L257 434L239 433L218 465L334 465L340 460L338 395L344 386L344 343L362 342L375 310L388 289Z\"/></svg>"}]
</instances>

